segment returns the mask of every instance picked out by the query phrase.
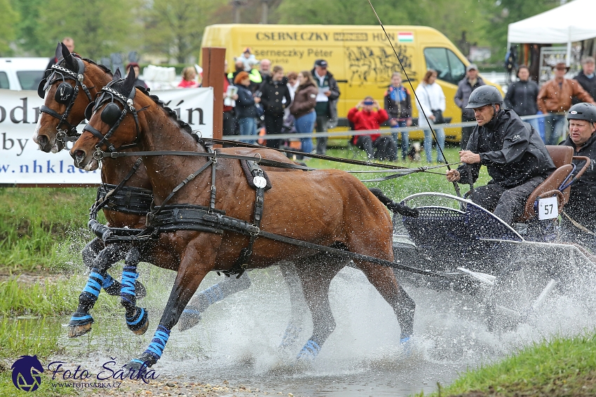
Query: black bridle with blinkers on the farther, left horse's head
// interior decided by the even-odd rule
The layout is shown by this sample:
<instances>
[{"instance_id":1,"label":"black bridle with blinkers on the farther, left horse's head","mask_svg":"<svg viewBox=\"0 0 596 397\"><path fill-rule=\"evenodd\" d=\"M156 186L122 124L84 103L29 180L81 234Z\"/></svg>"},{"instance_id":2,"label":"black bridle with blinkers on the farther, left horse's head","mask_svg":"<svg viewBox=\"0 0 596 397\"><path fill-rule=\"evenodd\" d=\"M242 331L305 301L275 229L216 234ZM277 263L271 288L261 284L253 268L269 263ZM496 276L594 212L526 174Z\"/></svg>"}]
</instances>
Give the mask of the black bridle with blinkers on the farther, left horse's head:
<instances>
[{"instance_id":1,"label":"black bridle with blinkers on the farther, left horse's head","mask_svg":"<svg viewBox=\"0 0 596 397\"><path fill-rule=\"evenodd\" d=\"M89 102L93 101L93 99L91 98L91 93L89 92L87 86L83 84L85 64L83 64L83 61L79 58L75 57L74 59L76 59L76 62L79 66L79 70L72 71L70 69L67 69L66 67L60 66L60 62L64 60L64 58L60 58L57 64L53 64L51 69L46 70L46 76L43 78L43 80L39 82L39 87L37 88L37 95L39 95L39 97L43 99L46 97L46 90L48 90L48 88L51 85L53 85L53 83L56 83L57 81L62 81L62 83L60 83L60 85L58 85L56 89L54 99L59 104L66 105L65 112L62 114L57 113L53 109L48 108L48 106L46 105L43 105L41 106L41 108L39 108L40 114L42 112L48 113L53 118L57 118L58 120L60 120L60 122L56 126L56 139L58 141L61 141L62 144L64 144L65 141L76 141L76 139L78 139L81 135L78 132L76 132L76 125L72 125L67 120L70 111L72 110L72 106L74 106L74 101L77 95L79 95L79 88L81 88L85 92L87 98L89 99ZM67 83L68 79L74 80L74 87L70 83ZM61 130L60 127L62 127L62 125L66 125L67 129Z\"/></svg>"}]
</instances>

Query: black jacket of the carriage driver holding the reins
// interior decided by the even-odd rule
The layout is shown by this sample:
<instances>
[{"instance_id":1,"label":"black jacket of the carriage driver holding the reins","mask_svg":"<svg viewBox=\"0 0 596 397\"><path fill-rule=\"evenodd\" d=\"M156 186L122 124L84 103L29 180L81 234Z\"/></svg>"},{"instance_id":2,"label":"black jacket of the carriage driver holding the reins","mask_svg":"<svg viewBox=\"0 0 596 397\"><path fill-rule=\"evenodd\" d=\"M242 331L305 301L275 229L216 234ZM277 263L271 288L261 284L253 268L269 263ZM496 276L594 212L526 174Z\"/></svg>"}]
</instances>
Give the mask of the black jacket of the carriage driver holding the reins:
<instances>
[{"instance_id":1,"label":"black jacket of the carriage driver holding the reins","mask_svg":"<svg viewBox=\"0 0 596 397\"><path fill-rule=\"evenodd\" d=\"M489 183L499 183L507 189L520 186L534 176L546 178L555 170L538 132L508 109L499 109L489 123L476 125L467 150L480 153L480 163L461 165L457 169L461 183L468 183L468 169L475 182L481 165L487 167L492 177Z\"/></svg>"}]
</instances>

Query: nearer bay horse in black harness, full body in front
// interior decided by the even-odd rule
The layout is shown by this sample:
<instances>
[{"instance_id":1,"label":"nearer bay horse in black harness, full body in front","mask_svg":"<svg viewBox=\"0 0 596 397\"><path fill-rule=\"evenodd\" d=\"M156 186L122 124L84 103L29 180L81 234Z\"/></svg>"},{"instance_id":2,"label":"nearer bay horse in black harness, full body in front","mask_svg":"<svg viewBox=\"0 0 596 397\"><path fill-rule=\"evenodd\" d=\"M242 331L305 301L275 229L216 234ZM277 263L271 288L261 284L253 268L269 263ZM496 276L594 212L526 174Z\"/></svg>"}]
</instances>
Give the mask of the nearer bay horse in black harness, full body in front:
<instances>
[{"instance_id":1,"label":"nearer bay horse in black harness, full body in front","mask_svg":"<svg viewBox=\"0 0 596 397\"><path fill-rule=\"evenodd\" d=\"M217 158L213 162L204 145L197 149L196 140L184 123L164 109L157 97L135 88L134 83L135 74L131 70L126 79L114 80L102 89L93 116L70 151L74 165L89 171L97 169L102 153L137 142L153 186L157 206L154 216L166 208L191 208L199 211L197 214L201 214L202 219L213 222L222 219L223 214L238 223L250 222L255 193L248 186L238 160ZM161 151L160 155L151 155L155 151ZM189 154L172 155L163 151ZM191 151L198 152L194 155ZM201 172L208 167L211 172ZM194 178L188 179L191 172ZM187 183L180 188L185 178ZM280 260L295 263L313 316L313 334L301 354L316 356L334 329L327 295L330 283L350 260L337 254L259 238L259 230L392 262L391 217L376 195L343 171L272 172L269 179L273 187L264 193L259 228L252 228L252 237L257 239L248 268L266 267ZM168 207L161 207L165 202ZM207 208L209 211L205 210ZM226 229L207 228L163 232L158 234L158 239L161 246L167 247L168 256L180 260L153 340L147 350L126 364L135 371L146 370L157 363L170 330L201 280L212 270L231 269L250 237ZM353 267L364 272L391 305L400 323L400 340L407 340L413 333L415 305L398 285L391 267L364 260L353 260ZM93 279L94 273L97 279ZM89 282L97 283L101 277L102 270L94 269Z\"/></svg>"}]
</instances>

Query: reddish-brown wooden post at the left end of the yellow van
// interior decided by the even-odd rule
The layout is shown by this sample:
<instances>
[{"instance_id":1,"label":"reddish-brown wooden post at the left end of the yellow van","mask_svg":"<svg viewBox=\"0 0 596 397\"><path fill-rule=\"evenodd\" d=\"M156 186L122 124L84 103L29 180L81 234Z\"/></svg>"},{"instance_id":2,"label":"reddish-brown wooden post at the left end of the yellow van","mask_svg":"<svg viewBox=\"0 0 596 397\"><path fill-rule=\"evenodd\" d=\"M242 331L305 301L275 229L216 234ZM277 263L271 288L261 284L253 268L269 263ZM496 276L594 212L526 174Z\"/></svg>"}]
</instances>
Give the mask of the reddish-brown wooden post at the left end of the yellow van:
<instances>
[{"instance_id":1,"label":"reddish-brown wooden post at the left end of the yellow van","mask_svg":"<svg viewBox=\"0 0 596 397\"><path fill-rule=\"evenodd\" d=\"M223 137L225 61L225 48L203 48L203 87L213 88L213 137L215 139Z\"/></svg>"}]
</instances>

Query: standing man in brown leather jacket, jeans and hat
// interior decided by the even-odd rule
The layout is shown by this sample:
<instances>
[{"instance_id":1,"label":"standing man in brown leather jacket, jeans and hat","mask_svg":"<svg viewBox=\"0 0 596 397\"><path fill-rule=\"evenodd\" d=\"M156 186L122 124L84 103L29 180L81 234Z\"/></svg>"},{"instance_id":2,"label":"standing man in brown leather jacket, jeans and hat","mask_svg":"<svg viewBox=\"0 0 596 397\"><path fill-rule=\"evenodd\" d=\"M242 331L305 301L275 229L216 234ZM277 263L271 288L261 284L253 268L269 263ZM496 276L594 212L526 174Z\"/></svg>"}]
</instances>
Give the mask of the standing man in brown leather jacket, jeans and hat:
<instances>
[{"instance_id":1,"label":"standing man in brown leather jacket, jeans and hat","mask_svg":"<svg viewBox=\"0 0 596 397\"><path fill-rule=\"evenodd\" d=\"M565 66L563 62L556 64L553 69L555 69L555 78L542 85L538 99L536 99L538 110L546 115L544 118L544 143L547 145L556 145L561 140L565 115L556 113L566 113L571 107L572 97L577 97L581 102L596 104L577 81L565 78L569 67Z\"/></svg>"}]
</instances>

